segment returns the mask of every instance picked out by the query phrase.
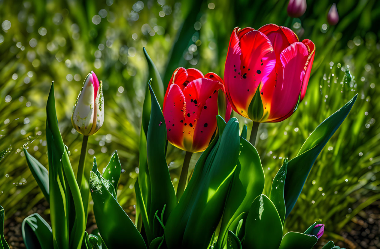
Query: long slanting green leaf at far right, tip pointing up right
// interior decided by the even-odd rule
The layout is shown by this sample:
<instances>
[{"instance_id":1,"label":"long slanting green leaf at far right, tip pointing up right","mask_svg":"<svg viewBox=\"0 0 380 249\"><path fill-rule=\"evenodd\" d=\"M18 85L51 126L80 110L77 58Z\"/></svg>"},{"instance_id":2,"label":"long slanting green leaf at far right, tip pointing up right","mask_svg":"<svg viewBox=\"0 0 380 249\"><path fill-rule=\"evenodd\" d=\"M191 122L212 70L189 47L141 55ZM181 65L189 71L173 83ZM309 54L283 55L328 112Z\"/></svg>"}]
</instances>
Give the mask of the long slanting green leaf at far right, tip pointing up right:
<instances>
[{"instance_id":1,"label":"long slanting green leaf at far right, tip pointing up right","mask_svg":"<svg viewBox=\"0 0 380 249\"><path fill-rule=\"evenodd\" d=\"M289 161L284 189L285 218L293 209L319 153L347 117L357 97L356 94L347 104L318 125L302 145L298 155Z\"/></svg>"}]
</instances>

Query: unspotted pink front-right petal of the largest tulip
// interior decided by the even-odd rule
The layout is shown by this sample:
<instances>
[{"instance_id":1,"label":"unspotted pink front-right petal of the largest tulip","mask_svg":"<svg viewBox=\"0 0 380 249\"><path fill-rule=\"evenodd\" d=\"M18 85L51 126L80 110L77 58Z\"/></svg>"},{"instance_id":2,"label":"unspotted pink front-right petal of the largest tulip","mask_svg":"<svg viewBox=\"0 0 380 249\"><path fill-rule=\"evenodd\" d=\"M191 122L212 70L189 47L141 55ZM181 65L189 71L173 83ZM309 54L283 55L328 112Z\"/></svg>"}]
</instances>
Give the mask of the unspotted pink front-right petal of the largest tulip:
<instances>
[{"instance_id":1,"label":"unspotted pink front-right petal of the largest tulip","mask_svg":"<svg viewBox=\"0 0 380 249\"><path fill-rule=\"evenodd\" d=\"M293 112L299 100L308 57L307 47L301 42L293 43L282 51L280 55L282 67L278 68L268 121L279 119Z\"/></svg>"}]
</instances>

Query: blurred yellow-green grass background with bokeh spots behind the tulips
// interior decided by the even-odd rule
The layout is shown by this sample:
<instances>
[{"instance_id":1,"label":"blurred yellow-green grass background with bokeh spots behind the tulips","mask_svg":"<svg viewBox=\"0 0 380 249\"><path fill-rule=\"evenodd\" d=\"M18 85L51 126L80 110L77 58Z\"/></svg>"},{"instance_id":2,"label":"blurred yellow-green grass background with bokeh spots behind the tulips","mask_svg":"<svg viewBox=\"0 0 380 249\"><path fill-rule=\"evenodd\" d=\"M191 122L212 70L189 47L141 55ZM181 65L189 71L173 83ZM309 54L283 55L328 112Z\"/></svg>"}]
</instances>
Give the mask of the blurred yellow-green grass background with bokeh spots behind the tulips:
<instances>
[{"instance_id":1,"label":"blurred yellow-green grass background with bokeh spots behind the tulips","mask_svg":"<svg viewBox=\"0 0 380 249\"><path fill-rule=\"evenodd\" d=\"M93 155L101 169L117 150L123 168L118 200L131 212L148 80L142 48L165 85L179 66L223 76L233 28L275 23L293 29L300 40L312 40L316 53L307 94L296 113L283 122L260 125L256 147L266 173L265 190L269 192L283 158L293 158L314 128L358 93L351 113L318 157L285 225L303 232L322 219L329 238L343 239L340 232L348 229L351 219L380 199L380 2L337 2L336 26L326 20L333 1L308 0L300 19L287 16L287 3L0 0L0 203L6 217L16 211L25 215L44 198L22 147L47 166L45 106L51 81L56 83L60 130L74 171L82 136L71 126L72 108L89 71L103 81L105 122L89 138L86 172ZM242 117L239 121L252 125ZM183 157L183 151L169 145L174 185ZM198 157L193 155L190 170Z\"/></svg>"}]
</instances>

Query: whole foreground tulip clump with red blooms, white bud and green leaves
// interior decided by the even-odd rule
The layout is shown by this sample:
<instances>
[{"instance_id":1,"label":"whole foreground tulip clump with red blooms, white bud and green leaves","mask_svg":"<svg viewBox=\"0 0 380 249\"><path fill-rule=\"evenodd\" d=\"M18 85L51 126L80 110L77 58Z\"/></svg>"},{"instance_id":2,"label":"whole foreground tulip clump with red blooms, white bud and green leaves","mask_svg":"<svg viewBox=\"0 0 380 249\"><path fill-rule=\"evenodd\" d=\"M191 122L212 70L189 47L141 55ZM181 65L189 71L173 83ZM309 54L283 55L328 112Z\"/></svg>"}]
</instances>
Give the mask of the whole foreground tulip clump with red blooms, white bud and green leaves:
<instances>
[{"instance_id":1,"label":"whole foreground tulip clump with red blooms, white bud and green leaves","mask_svg":"<svg viewBox=\"0 0 380 249\"><path fill-rule=\"evenodd\" d=\"M288 12L294 16L304 13L305 1L290 3L304 5L288 7ZM76 178L59 131L53 82L46 108L49 171L24 149L28 166L50 203L51 227L38 214L25 218L22 233L26 247L312 248L325 225L315 222L304 233L285 235L283 225L315 159L348 115L357 95L310 134L296 157L283 160L268 196L263 194L265 178L259 153L252 141L246 140L247 126L239 133L239 122L230 118L230 113L233 109L257 125L290 117L306 94L314 54L313 42L299 41L287 27L235 28L224 80L215 73L203 75L195 68L179 67L168 82L162 111L149 83L146 94L150 99L146 100L151 106L144 104L142 110L143 115L150 114L143 117L149 124L141 129L135 183L136 224L117 201L122 166L116 152L102 174L94 157L89 179L83 177L88 136L103 125L102 82L89 73L74 106L73 127L84 135ZM148 63L155 69L150 58ZM227 122L218 115L219 96L227 100ZM166 162L167 141L187 151L177 191ZM188 180L191 155L201 151ZM90 235L85 231L89 193L98 227ZM3 215L2 209L0 222ZM9 248L4 239L0 246ZM332 248L338 248L332 241L323 247Z\"/></svg>"}]
</instances>

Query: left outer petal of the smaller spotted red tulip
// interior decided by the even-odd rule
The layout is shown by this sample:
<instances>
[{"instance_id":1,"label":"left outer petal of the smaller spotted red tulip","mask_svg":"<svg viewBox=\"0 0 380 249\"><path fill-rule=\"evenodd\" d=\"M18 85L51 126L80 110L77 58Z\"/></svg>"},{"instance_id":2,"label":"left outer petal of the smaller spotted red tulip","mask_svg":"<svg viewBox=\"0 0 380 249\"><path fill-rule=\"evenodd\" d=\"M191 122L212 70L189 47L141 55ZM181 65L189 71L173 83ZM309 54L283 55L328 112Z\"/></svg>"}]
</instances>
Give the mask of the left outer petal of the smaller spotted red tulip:
<instances>
[{"instance_id":1,"label":"left outer petal of the smaller spotted red tulip","mask_svg":"<svg viewBox=\"0 0 380 249\"><path fill-rule=\"evenodd\" d=\"M165 100L163 116L165 117L168 141L174 146L184 149L183 126L185 119L185 96L178 85L171 84Z\"/></svg>"}]
</instances>

